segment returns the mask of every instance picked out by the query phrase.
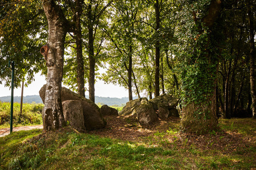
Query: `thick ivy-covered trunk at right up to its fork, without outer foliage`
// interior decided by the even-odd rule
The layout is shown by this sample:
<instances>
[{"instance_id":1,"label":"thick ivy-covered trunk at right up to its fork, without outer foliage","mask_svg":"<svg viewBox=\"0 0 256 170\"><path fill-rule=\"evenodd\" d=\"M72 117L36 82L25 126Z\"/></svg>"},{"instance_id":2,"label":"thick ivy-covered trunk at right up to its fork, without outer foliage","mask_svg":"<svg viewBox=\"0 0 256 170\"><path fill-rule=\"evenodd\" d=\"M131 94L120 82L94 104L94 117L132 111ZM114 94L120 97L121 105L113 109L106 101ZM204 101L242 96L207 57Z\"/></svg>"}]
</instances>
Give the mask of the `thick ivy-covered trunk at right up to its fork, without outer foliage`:
<instances>
[{"instance_id":1,"label":"thick ivy-covered trunk at right up to its fork, without outer foliage","mask_svg":"<svg viewBox=\"0 0 256 170\"><path fill-rule=\"evenodd\" d=\"M189 5L192 6L193 5ZM193 46L183 61L181 90L183 109L181 113L181 130L205 134L216 130L216 86L218 58L214 32L210 30L221 10L221 1L212 0L203 18L197 16L192 8L195 27L191 29ZM215 43L215 44L214 44Z\"/></svg>"}]
</instances>

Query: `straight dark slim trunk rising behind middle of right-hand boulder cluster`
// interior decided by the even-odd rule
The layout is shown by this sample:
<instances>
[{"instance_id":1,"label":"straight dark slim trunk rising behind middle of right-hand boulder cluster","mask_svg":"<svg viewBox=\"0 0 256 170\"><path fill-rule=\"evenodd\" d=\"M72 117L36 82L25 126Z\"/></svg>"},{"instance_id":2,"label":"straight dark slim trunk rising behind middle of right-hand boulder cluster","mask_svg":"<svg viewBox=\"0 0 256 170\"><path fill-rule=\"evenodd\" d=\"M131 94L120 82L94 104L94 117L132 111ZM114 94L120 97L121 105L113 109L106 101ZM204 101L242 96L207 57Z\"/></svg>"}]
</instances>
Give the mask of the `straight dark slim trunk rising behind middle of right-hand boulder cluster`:
<instances>
[{"instance_id":1,"label":"straight dark slim trunk rising behind middle of right-hand boulder cluster","mask_svg":"<svg viewBox=\"0 0 256 170\"><path fill-rule=\"evenodd\" d=\"M159 28L160 28L160 12L159 12L159 2L158 0L156 0L155 2L155 23L156 23L156 27L155 27L155 31L156 31L156 35L158 35L159 32ZM156 42L155 42L155 97L159 96L160 93L160 83L159 83L159 66L160 66L160 42L157 38Z\"/></svg>"}]
</instances>

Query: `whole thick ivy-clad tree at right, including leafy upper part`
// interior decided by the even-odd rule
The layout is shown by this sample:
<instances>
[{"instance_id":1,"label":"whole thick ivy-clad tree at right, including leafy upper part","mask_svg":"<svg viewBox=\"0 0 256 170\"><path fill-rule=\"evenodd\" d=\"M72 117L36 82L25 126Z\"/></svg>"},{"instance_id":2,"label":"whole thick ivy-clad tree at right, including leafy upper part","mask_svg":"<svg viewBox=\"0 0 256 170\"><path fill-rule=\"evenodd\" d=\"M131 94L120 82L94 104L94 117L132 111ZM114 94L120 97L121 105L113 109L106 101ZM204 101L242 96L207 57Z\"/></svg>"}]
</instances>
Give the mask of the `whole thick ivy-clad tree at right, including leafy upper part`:
<instances>
[{"instance_id":1,"label":"whole thick ivy-clad tree at right, including leafy upper part","mask_svg":"<svg viewBox=\"0 0 256 170\"><path fill-rule=\"evenodd\" d=\"M181 61L181 129L192 133L216 130L216 74L218 58L214 34L221 1L183 2L176 37Z\"/></svg>"}]
</instances>

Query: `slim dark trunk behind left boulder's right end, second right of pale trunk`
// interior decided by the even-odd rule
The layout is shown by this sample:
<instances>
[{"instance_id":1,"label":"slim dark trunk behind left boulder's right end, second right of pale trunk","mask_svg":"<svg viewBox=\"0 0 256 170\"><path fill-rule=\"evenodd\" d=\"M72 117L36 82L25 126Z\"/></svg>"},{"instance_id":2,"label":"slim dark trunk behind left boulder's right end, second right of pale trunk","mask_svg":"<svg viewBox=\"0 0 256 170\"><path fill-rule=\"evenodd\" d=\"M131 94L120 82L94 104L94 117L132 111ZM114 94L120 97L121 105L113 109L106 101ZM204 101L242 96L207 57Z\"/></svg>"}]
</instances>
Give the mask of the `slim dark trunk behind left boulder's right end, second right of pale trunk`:
<instances>
[{"instance_id":1,"label":"slim dark trunk behind left boulder's right end, second right of pale trunk","mask_svg":"<svg viewBox=\"0 0 256 170\"><path fill-rule=\"evenodd\" d=\"M93 47L93 23L92 23L92 4L88 5L88 46L89 46L89 99L95 102L95 58Z\"/></svg>"}]
</instances>

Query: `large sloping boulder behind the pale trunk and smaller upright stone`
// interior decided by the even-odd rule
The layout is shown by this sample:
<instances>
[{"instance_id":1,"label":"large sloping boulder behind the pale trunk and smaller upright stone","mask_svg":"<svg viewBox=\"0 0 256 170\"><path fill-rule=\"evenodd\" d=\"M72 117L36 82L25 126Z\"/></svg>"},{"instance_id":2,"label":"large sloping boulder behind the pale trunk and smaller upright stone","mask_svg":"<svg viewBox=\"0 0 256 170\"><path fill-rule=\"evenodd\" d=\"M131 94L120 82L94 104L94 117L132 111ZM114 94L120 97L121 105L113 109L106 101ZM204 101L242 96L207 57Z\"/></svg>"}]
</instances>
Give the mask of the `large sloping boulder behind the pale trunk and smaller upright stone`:
<instances>
[{"instance_id":1,"label":"large sloping boulder behind the pale trunk and smaller upright stone","mask_svg":"<svg viewBox=\"0 0 256 170\"><path fill-rule=\"evenodd\" d=\"M40 89L39 95L44 103L46 84ZM66 100L78 100L81 102L86 130L101 129L106 126L106 121L101 117L100 108L93 101L76 94L68 88L61 87L61 102Z\"/></svg>"}]
</instances>

